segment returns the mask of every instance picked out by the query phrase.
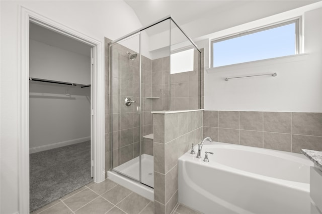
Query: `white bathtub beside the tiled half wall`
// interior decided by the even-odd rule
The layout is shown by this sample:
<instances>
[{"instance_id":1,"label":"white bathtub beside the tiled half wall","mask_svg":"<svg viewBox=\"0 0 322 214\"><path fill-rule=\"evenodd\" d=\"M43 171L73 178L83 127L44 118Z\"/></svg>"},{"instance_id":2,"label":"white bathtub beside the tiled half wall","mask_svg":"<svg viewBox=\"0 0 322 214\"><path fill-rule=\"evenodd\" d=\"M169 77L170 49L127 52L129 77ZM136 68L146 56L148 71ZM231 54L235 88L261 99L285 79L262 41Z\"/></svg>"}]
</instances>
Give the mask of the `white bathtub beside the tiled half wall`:
<instances>
[{"instance_id":1,"label":"white bathtub beside the tiled half wall","mask_svg":"<svg viewBox=\"0 0 322 214\"><path fill-rule=\"evenodd\" d=\"M205 151L214 153L208 163ZM204 145L202 159L190 152L179 158L179 202L205 214L310 213L310 166L302 154Z\"/></svg>"}]
</instances>

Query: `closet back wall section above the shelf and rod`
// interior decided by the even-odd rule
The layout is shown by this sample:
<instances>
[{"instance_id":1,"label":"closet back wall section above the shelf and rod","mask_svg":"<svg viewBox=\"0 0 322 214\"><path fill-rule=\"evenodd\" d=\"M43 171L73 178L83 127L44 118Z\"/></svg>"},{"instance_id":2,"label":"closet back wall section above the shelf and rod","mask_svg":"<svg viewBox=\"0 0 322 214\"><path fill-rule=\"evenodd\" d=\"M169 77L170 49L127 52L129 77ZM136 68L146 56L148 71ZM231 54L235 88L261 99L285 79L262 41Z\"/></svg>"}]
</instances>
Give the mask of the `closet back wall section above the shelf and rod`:
<instances>
[{"instance_id":1,"label":"closet back wall section above the shelf and rod","mask_svg":"<svg viewBox=\"0 0 322 214\"><path fill-rule=\"evenodd\" d=\"M91 84L91 58L88 56L29 40L29 62L30 77Z\"/></svg>"}]
</instances>

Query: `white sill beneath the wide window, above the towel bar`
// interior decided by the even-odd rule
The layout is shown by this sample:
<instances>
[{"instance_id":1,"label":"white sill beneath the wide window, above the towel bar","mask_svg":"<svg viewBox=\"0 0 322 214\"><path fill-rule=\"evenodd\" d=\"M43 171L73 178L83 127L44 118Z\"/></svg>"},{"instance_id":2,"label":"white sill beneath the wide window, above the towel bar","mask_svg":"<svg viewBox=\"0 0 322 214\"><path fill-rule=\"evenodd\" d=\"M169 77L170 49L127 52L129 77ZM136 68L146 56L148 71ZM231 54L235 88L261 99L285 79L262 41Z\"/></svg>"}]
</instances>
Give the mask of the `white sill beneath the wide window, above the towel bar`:
<instances>
[{"instance_id":1,"label":"white sill beneath the wide window, above the towel bar","mask_svg":"<svg viewBox=\"0 0 322 214\"><path fill-rule=\"evenodd\" d=\"M264 59L264 60L245 62L245 63L237 63L232 65L219 66L215 68L208 68L206 69L206 71L208 74L211 74L211 73L217 73L217 72L231 71L235 69L237 70L241 68L252 68L252 67L266 66L266 65L272 65L272 64L291 63L291 62L306 60L308 55L309 53L303 53L303 54L295 54L295 55L289 55L284 57L276 57L276 58L270 58L270 59Z\"/></svg>"}]
</instances>

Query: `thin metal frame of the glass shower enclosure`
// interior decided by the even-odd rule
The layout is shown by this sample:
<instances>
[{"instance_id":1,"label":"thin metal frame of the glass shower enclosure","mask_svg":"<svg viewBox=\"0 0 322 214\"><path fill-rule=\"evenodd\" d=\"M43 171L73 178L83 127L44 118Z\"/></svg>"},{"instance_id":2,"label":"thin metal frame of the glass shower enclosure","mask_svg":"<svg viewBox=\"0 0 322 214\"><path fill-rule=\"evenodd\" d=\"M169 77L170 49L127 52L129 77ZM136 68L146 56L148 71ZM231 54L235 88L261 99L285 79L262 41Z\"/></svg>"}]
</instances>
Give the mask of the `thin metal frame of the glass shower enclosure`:
<instances>
[{"instance_id":1,"label":"thin metal frame of the glass shower enclosure","mask_svg":"<svg viewBox=\"0 0 322 214\"><path fill-rule=\"evenodd\" d=\"M110 127L109 127L109 133L110 133L109 134L109 141L110 142L109 143L110 143L110 148L112 148L111 151L110 151L110 155L109 155L109 158L110 158L110 161L109 161L110 162L110 164L109 164L109 170L110 171L115 171L115 172L117 172L117 173L119 173L119 174L121 174L121 175L123 175L123 176L125 176L125 177L127 177L129 179L131 179L131 180L134 180L136 182L140 182L141 184L143 184L145 186L148 186L148 185L146 185L146 184L144 184L144 183L141 182L142 181L141 180L141 155L142 155L142 147L141 147L141 140L142 140L141 139L141 106L143 105L143 102L142 102L142 100L143 100L143 98L142 98L142 83L141 83L141 78L142 78L141 77L141 73L142 73L141 72L141 44L142 44L141 43L141 38L142 38L141 37L141 32L144 31L145 29L148 29L148 28L150 28L150 27L152 27L154 25L157 25L159 23L162 23L162 22L164 22L166 20L172 21L178 27L178 29L187 37L187 39L191 42L191 44L194 46L194 48L196 48L199 51L199 53L201 54L201 51L197 47L197 45L179 27L179 25L176 23L176 21L170 15L169 16L166 16L166 17L164 17L164 18L162 18L160 20L157 20L157 21L153 22L150 25L147 25L145 27L142 27L142 28L140 28L140 29L138 29L136 31L133 31L133 32L131 32L131 33L129 33L129 34L123 36L123 37L120 37L119 39L116 39L116 40L114 40L114 41L112 41L112 42L110 42L108 44L109 45L109 91L110 91L110 95L109 95L109 103L110 103L110 108L109 108L109 124L110 124ZM169 26L169 30L170 30L170 41L171 41L171 26ZM140 56L140 62L139 62L139 69L140 69L140 82L139 82L139 84L140 84L140 106L139 106L139 115L140 115L140 117L139 117L140 118L139 119L139 121L140 121L139 122L139 132L140 132L139 133L139 139L140 139L140 141L139 141L139 181L137 181L136 179L133 179L132 177L130 177L130 176L124 174L124 173L118 172L118 171L116 171L116 170L113 169L113 152L112 152L113 151L113 147L112 147L112 140L113 140L112 139L112 105L113 105L113 102L112 102L112 47L113 47L114 44L117 44L118 42L121 42L122 40L124 40L126 38L129 38L129 37L131 37L131 36L133 36L135 34L138 34L139 35L139 56ZM171 46L171 42L170 42L169 46ZM199 59L201 60L201 57ZM201 70L201 69L199 68L199 70ZM201 87L201 84L200 84L200 87ZM201 88L200 88L200 90L201 90ZM200 108L201 108L201 94L200 94L200 100L199 101L200 101ZM148 187L150 187L150 186L148 186Z\"/></svg>"}]
</instances>

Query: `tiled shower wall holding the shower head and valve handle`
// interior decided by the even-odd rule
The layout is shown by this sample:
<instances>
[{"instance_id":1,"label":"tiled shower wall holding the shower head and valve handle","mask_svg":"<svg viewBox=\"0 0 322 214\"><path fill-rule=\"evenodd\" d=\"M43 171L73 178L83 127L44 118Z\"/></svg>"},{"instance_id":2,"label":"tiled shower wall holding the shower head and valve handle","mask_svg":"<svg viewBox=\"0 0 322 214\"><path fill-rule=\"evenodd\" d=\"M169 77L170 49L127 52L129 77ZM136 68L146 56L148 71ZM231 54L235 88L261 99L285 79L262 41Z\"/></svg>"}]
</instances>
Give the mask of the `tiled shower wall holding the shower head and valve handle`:
<instances>
[{"instance_id":1,"label":"tiled shower wall holding the shower head and valve handle","mask_svg":"<svg viewBox=\"0 0 322 214\"><path fill-rule=\"evenodd\" d=\"M130 60L128 48L113 45L112 59L112 153L113 167L139 155L139 56ZM129 97L136 101L126 106L124 100Z\"/></svg>"}]
</instances>

